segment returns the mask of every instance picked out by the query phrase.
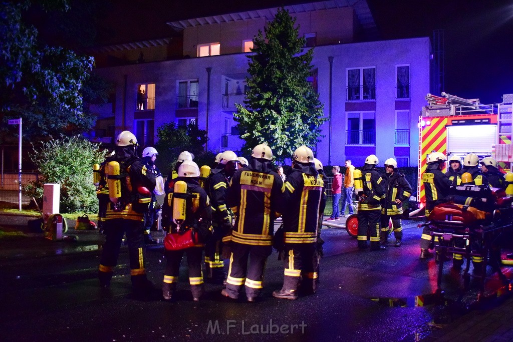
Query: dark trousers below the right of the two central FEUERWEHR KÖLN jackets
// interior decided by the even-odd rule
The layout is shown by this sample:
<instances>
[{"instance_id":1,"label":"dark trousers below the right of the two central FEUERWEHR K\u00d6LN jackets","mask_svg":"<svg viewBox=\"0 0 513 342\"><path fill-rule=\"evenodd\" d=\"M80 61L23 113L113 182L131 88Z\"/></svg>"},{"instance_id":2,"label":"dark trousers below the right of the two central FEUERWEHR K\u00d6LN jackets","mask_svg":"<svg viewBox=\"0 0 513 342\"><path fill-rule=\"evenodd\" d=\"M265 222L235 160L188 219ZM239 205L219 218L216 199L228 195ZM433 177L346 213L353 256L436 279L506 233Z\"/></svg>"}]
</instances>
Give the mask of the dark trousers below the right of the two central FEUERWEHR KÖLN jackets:
<instances>
[{"instance_id":1,"label":"dark trousers below the right of the two central FEUERWEHR K\u00d6LN jackets","mask_svg":"<svg viewBox=\"0 0 513 342\"><path fill-rule=\"evenodd\" d=\"M307 293L317 291L319 255L316 243L285 244L284 248L284 277L285 290L298 290Z\"/></svg>"}]
</instances>

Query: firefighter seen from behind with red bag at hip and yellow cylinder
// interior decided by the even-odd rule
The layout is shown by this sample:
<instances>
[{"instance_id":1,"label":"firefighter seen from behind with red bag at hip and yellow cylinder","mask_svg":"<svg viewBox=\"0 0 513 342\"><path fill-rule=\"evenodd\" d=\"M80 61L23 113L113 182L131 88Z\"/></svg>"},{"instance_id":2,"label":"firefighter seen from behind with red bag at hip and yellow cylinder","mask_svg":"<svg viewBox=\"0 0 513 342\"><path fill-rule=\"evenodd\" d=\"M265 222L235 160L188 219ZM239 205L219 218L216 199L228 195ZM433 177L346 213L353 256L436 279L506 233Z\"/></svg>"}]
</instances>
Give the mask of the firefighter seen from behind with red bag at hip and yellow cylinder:
<instances>
[{"instance_id":1,"label":"firefighter seen from behind with red bag at hip and yellow cylinder","mask_svg":"<svg viewBox=\"0 0 513 342\"><path fill-rule=\"evenodd\" d=\"M209 227L212 220L209 199L205 190L199 184L200 168L191 160L184 160L178 168L178 176L175 182L182 180L187 184L185 219L180 225L180 231L194 229L199 234L199 241L192 247L181 250L165 250L167 260L164 271L164 284L162 295L164 299L171 299L176 291L176 283L179 277L180 261L184 253L187 255L189 267L189 284L194 301L200 300L203 295L203 272L201 260L205 244L203 243L209 234ZM173 198L174 196L174 198ZM174 189L166 194L162 207L162 225L166 227L167 233L177 233L176 217L173 217L173 201L179 197Z\"/></svg>"}]
</instances>

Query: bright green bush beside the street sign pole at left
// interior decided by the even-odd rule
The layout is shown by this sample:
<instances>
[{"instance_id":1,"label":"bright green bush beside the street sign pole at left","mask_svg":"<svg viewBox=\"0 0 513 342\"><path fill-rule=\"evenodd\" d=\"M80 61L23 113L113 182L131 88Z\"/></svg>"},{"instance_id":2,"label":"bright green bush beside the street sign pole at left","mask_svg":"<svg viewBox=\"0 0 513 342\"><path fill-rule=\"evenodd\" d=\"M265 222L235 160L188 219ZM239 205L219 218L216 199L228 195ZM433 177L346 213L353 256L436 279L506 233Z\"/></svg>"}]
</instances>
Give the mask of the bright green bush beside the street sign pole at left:
<instances>
[{"instance_id":1,"label":"bright green bush beside the street sign pole at left","mask_svg":"<svg viewBox=\"0 0 513 342\"><path fill-rule=\"evenodd\" d=\"M34 148L31 159L42 177L25 186L24 192L42 203L43 185L60 184L61 212L96 212L98 199L92 183L92 165L100 164L105 153L99 145L80 136L50 139L41 148Z\"/></svg>"}]
</instances>

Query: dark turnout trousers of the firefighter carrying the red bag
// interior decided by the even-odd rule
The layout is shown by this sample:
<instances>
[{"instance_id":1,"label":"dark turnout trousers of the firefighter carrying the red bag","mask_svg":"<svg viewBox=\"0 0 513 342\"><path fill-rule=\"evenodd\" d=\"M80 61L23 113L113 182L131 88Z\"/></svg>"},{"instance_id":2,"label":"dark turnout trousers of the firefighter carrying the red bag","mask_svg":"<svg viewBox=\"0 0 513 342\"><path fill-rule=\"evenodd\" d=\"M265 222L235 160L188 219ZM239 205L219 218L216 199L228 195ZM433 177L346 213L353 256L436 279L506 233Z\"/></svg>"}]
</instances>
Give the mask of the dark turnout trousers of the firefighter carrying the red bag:
<instances>
[{"instance_id":1,"label":"dark turnout trousers of the firefighter carrying the red bag","mask_svg":"<svg viewBox=\"0 0 513 342\"><path fill-rule=\"evenodd\" d=\"M203 272L201 270L201 259L203 256L203 246L193 246L179 251L164 252L167 265L164 271L164 285L171 294L176 291L176 283L180 272L180 263L184 254L187 255L187 266L189 268L189 284L191 286L192 296L200 298L203 294Z\"/></svg>"}]
</instances>

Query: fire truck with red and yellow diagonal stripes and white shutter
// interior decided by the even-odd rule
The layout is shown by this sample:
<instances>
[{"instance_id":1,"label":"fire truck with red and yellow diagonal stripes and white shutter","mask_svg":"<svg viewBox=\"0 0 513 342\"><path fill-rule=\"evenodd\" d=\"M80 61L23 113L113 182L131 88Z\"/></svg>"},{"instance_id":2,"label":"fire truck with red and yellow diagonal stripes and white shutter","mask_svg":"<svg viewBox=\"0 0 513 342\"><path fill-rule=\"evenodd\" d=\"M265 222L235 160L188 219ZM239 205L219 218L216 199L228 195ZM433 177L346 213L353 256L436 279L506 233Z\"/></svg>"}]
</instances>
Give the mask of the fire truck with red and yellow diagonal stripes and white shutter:
<instances>
[{"instance_id":1,"label":"fire truck with red and yellow diagonal stripes and white shutter","mask_svg":"<svg viewBox=\"0 0 513 342\"><path fill-rule=\"evenodd\" d=\"M511 144L511 104L513 94L502 96L501 104L484 105L479 98L465 99L442 93L427 94L428 105L419 118L419 171L417 177L418 206L410 213L423 211L426 197L422 174L426 171L429 153L441 152L461 159L473 152L480 158L491 156L506 173L513 162ZM412 201L413 202L413 201Z\"/></svg>"}]
</instances>

